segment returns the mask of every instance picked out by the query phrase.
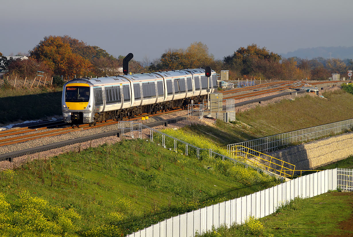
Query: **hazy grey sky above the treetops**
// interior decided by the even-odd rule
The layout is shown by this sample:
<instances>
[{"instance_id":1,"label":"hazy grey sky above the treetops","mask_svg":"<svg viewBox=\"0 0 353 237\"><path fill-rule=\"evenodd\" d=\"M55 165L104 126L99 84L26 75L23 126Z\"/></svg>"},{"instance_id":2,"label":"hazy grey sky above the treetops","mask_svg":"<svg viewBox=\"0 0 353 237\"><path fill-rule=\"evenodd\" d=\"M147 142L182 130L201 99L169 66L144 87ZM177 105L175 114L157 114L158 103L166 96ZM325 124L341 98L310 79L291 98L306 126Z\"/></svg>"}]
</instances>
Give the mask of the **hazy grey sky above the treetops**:
<instances>
[{"instance_id":1,"label":"hazy grey sky above the treetops","mask_svg":"<svg viewBox=\"0 0 353 237\"><path fill-rule=\"evenodd\" d=\"M352 0L0 0L0 52L28 52L49 35L135 60L195 41L216 59L251 43L275 53L350 47L352 11Z\"/></svg>"}]
</instances>

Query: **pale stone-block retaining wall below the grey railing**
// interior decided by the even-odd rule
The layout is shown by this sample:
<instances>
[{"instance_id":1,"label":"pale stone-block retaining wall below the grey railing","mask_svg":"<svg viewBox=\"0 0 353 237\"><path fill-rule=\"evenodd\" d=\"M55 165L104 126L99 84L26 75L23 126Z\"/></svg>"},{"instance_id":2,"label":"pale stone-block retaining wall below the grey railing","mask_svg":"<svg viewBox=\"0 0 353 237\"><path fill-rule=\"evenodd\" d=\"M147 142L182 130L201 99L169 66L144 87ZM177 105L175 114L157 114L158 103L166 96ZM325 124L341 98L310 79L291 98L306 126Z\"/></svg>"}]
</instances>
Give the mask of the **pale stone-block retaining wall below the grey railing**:
<instances>
[{"instance_id":1,"label":"pale stone-block retaining wall below the grey railing","mask_svg":"<svg viewBox=\"0 0 353 237\"><path fill-rule=\"evenodd\" d=\"M311 141L267 153L295 165L295 170L315 169L353 155L353 132Z\"/></svg>"}]
</instances>

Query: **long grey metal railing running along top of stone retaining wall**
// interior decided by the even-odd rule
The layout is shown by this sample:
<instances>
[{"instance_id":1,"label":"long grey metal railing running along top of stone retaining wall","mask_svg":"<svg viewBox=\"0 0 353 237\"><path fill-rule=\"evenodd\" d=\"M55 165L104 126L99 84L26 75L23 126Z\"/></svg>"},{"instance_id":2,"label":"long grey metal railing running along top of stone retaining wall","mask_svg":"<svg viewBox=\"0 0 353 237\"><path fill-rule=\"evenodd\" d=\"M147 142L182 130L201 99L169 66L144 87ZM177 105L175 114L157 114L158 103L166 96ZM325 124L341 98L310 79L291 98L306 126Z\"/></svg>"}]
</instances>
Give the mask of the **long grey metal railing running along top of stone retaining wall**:
<instances>
[{"instance_id":1,"label":"long grey metal railing running along top of stone retaining wall","mask_svg":"<svg viewBox=\"0 0 353 237\"><path fill-rule=\"evenodd\" d=\"M353 128L353 119L347 119L339 122L323 124L311 128L304 128L292 132L266 136L263 138L253 139L249 141L238 142L227 145L227 150L231 151L232 146L245 146L259 152L273 152L279 150L283 146L306 142L327 136L330 134L338 134L344 130Z\"/></svg>"}]
</instances>

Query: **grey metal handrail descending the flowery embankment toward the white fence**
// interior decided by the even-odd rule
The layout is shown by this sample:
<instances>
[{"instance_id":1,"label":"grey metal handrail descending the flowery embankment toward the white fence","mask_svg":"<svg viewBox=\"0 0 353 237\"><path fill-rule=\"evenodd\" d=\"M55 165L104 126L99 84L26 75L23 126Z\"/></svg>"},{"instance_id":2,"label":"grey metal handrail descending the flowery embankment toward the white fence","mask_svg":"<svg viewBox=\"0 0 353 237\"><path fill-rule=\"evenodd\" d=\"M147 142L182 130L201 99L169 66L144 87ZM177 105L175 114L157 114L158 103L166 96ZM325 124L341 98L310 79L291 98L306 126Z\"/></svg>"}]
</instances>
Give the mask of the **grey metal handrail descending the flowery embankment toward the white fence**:
<instances>
[{"instance_id":1,"label":"grey metal handrail descending the flowery embankment toward the white fence","mask_svg":"<svg viewBox=\"0 0 353 237\"><path fill-rule=\"evenodd\" d=\"M125 122L131 122L131 121L125 121ZM134 123L134 124L136 124L136 123ZM131 126L132 126L132 125L131 125ZM267 175L269 175L269 176L279 178L279 179L281 179L282 181L284 180L284 178L281 177L280 175L274 174L274 173L272 173L272 172L270 172L270 171L267 171L267 170L263 170L263 169L261 169L261 168L259 168L259 167L254 166L254 165L247 164L247 163L245 163L245 162L241 162L241 161L239 161L239 160L233 159L233 158L228 157L228 156L226 156L226 155L219 154L219 153L217 153L217 152L212 151L212 149L199 148L199 147L197 147L197 146L191 145L191 144L189 144L189 143L187 143L187 142L185 142L185 141L183 141L183 140L180 140L180 139L178 139L178 138L174 138L173 136L167 135L167 134L165 134L165 133L162 133L162 132L160 132L160 131L157 131L156 129L150 128L150 127L145 126L145 125L143 125L143 124L140 124L139 126L140 126L140 129L141 129L140 132L139 132L139 138L142 138L142 129L148 129L148 130L149 130L149 135L150 135L150 140L151 140L152 142L154 142L154 140L155 140L154 136L156 136L156 134L158 134L158 138L159 138L159 140L160 140L161 143L162 143L161 145L162 145L164 148L167 148L167 149L169 149L169 150L173 150L173 151L182 150L182 151L185 151L185 155L186 155L186 156L189 155L190 150L195 150L195 151L196 151L195 154L196 154L196 157L197 157L198 159L200 159L200 157L201 157L201 152L202 152L202 151L208 151L208 152L207 152L207 155L208 155L210 158L211 158L211 157L214 157L214 158L220 158L220 159L222 159L222 160L229 160L229 161L233 162L234 165L235 165L235 164L241 164L241 165L244 165L245 168L251 168L251 169L256 170L258 173L259 173L259 172L263 172L263 173L265 173L265 174L267 174ZM135 131L136 131L136 130L135 130ZM166 146L166 144L167 144L166 139L170 139L170 140L173 141L173 148L168 148L168 147ZM183 144L185 147L183 147L183 149L180 149L180 146L178 147L178 143L179 143L179 144ZM184 149L185 149L185 150L184 150Z\"/></svg>"}]
</instances>

